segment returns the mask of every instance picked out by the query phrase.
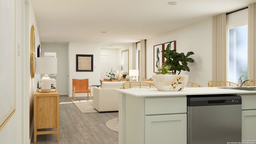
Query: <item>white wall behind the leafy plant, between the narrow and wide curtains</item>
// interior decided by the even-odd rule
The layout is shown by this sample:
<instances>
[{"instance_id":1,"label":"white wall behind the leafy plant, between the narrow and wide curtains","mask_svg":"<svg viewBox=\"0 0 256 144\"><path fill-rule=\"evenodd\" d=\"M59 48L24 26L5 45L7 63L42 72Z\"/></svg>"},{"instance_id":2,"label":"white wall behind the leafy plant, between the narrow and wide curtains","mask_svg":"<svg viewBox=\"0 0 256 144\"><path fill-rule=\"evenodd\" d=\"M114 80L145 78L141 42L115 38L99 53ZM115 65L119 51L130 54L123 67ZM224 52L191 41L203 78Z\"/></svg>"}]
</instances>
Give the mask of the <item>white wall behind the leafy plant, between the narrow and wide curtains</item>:
<instances>
[{"instance_id":1,"label":"white wall behind the leafy plant, between the narrow and wide curtains","mask_svg":"<svg viewBox=\"0 0 256 144\"><path fill-rule=\"evenodd\" d=\"M176 40L177 52L194 52L190 56L194 63L189 63L188 80L202 86L212 80L212 18L162 34L146 40L146 78L152 78L154 45Z\"/></svg>"}]
</instances>

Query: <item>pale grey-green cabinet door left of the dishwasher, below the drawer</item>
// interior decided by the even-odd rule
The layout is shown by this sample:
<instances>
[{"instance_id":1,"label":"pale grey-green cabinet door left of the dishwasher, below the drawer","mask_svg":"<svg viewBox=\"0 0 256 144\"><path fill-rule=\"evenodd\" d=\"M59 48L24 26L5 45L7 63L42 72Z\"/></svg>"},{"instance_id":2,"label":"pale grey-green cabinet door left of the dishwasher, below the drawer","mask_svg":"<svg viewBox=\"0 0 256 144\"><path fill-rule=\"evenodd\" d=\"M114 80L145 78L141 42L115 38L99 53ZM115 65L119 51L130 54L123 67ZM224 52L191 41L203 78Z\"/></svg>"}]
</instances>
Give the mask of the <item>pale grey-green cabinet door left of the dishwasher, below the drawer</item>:
<instances>
[{"instance_id":1,"label":"pale grey-green cabinet door left of the dishwasher, below the drawer","mask_svg":"<svg viewBox=\"0 0 256 144\"><path fill-rule=\"evenodd\" d=\"M187 114L145 116L145 144L186 144Z\"/></svg>"}]
</instances>

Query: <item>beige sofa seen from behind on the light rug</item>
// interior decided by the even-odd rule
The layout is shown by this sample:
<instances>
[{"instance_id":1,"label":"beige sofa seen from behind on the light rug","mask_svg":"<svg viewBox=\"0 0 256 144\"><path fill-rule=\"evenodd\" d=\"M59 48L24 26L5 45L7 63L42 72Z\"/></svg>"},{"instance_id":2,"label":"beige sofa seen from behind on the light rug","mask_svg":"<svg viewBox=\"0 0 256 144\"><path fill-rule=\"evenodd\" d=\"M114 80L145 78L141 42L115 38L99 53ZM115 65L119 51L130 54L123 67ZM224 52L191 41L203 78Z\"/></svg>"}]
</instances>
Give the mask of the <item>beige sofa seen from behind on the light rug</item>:
<instances>
[{"instance_id":1,"label":"beige sofa seen from behind on the light rug","mask_svg":"<svg viewBox=\"0 0 256 144\"><path fill-rule=\"evenodd\" d=\"M124 82L102 82L101 88L93 87L93 106L99 112L118 111L118 92Z\"/></svg>"}]
</instances>

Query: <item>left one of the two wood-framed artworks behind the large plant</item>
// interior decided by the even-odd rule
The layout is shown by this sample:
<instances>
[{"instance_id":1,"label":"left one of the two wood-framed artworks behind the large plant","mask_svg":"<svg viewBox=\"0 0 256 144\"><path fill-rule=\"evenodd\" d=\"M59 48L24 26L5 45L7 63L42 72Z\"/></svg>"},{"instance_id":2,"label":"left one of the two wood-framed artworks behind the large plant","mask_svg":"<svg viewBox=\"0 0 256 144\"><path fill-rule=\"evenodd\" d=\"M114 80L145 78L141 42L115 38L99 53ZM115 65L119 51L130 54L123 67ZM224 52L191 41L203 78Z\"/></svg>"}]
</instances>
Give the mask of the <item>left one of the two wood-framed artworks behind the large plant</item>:
<instances>
[{"instance_id":1,"label":"left one of the two wood-framed artworks behind the large plant","mask_svg":"<svg viewBox=\"0 0 256 144\"><path fill-rule=\"evenodd\" d=\"M158 44L154 46L154 72L158 72L159 68L164 62L164 44Z\"/></svg>"}]
</instances>

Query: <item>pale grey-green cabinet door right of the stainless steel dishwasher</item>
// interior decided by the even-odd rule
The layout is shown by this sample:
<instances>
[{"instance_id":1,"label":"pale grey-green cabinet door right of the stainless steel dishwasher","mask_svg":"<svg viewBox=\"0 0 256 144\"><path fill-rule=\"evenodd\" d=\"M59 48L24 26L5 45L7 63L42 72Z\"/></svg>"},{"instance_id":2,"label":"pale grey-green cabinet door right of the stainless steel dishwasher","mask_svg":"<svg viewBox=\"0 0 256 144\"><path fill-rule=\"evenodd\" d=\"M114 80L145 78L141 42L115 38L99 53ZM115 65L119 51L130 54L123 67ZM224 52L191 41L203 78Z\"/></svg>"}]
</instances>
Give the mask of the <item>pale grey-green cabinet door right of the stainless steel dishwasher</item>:
<instances>
[{"instance_id":1,"label":"pale grey-green cabinet door right of the stainless steel dishwasher","mask_svg":"<svg viewBox=\"0 0 256 144\"><path fill-rule=\"evenodd\" d=\"M256 110L242 111L242 140L256 140Z\"/></svg>"}]
</instances>

